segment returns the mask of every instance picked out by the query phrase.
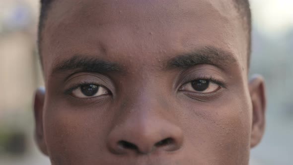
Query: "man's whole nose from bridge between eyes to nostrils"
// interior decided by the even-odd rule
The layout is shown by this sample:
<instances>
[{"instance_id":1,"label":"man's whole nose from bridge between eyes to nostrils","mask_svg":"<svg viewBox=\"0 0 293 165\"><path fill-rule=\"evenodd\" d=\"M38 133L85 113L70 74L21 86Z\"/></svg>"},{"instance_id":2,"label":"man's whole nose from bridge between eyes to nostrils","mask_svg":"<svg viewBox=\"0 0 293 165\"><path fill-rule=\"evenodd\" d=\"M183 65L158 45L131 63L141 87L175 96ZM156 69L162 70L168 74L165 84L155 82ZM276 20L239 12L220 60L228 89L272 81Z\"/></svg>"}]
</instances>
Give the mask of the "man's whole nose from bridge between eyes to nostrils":
<instances>
[{"instance_id":1,"label":"man's whole nose from bridge between eyes to nostrils","mask_svg":"<svg viewBox=\"0 0 293 165\"><path fill-rule=\"evenodd\" d=\"M112 153L147 154L153 151L175 151L181 147L183 134L156 92L138 93L123 110L119 121L111 130L108 147Z\"/></svg>"}]
</instances>

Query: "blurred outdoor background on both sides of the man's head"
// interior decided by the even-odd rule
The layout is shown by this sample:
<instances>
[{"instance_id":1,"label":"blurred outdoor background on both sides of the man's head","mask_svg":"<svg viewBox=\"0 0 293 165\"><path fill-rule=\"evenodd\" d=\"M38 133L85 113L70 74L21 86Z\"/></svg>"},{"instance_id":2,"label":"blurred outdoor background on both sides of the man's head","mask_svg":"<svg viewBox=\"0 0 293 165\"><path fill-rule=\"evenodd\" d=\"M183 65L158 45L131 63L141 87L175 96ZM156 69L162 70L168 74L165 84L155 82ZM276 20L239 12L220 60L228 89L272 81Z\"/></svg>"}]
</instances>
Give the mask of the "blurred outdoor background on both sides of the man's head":
<instances>
[{"instance_id":1,"label":"blurred outdoor background on both sides of the man's head","mask_svg":"<svg viewBox=\"0 0 293 165\"><path fill-rule=\"evenodd\" d=\"M293 0L250 0L251 75L267 83L267 127L251 165L293 165ZM0 0L0 165L50 165L33 142L39 0Z\"/></svg>"}]
</instances>

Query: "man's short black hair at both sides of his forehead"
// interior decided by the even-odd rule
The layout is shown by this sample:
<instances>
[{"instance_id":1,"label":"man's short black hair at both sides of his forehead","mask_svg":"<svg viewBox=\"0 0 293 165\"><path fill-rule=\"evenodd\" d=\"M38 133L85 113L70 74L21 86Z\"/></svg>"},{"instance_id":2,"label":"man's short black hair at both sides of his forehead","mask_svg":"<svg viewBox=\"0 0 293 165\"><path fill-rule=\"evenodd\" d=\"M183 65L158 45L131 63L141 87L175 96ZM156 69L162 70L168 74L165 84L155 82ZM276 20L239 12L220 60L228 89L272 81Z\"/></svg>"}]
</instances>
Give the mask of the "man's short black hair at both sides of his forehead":
<instances>
[{"instance_id":1,"label":"man's short black hair at both sides of his forehead","mask_svg":"<svg viewBox=\"0 0 293 165\"><path fill-rule=\"evenodd\" d=\"M41 10L39 17L39 26L38 26L38 48L40 50L40 42L42 41L42 29L44 27L46 18L48 16L48 10L51 7L51 4L55 0L41 0ZM250 54L251 54L251 10L249 5L249 0L233 0L235 8L239 12L242 20L244 29L247 30L248 36L248 65L250 62Z\"/></svg>"}]
</instances>

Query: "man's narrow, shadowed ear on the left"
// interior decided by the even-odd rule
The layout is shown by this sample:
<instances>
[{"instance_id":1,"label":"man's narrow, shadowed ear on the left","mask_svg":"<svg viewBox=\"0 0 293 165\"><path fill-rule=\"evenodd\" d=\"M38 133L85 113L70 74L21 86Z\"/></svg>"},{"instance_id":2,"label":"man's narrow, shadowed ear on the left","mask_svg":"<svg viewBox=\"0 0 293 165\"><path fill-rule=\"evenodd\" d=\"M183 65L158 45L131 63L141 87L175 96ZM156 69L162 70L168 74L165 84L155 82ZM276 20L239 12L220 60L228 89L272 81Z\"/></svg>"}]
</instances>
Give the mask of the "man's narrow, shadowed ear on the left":
<instances>
[{"instance_id":1,"label":"man's narrow, shadowed ear on the left","mask_svg":"<svg viewBox=\"0 0 293 165\"><path fill-rule=\"evenodd\" d=\"M39 149L43 154L48 155L47 147L44 140L43 132L43 112L44 112L44 101L45 101L45 88L38 88L35 93L34 102L34 116L35 116L35 140Z\"/></svg>"}]
</instances>

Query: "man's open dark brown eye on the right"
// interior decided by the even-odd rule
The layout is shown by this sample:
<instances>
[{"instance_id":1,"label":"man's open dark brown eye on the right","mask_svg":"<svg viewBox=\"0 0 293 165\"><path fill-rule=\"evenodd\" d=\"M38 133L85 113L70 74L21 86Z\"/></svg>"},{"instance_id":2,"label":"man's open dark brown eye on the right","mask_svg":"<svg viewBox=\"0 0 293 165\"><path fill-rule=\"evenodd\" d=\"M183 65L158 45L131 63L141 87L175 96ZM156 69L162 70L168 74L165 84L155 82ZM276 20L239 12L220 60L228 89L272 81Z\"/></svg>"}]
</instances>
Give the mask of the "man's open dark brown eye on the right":
<instances>
[{"instance_id":1,"label":"man's open dark brown eye on the right","mask_svg":"<svg viewBox=\"0 0 293 165\"><path fill-rule=\"evenodd\" d=\"M194 91L198 93L212 93L219 90L221 86L209 80L195 80L185 83L180 90Z\"/></svg>"}]
</instances>

